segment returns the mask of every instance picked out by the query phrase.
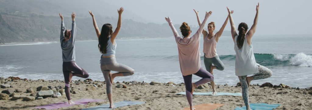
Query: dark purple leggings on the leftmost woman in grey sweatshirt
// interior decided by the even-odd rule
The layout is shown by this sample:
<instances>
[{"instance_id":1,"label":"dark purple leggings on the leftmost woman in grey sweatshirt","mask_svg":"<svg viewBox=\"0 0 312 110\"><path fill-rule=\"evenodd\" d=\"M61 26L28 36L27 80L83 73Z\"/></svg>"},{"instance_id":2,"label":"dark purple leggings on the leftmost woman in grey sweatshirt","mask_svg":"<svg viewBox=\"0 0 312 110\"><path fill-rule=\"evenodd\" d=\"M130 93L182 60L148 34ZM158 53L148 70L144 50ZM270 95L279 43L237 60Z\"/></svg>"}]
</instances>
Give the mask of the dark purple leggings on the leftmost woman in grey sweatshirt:
<instances>
[{"instance_id":1,"label":"dark purple leggings on the leftmost woman in grey sweatshirt","mask_svg":"<svg viewBox=\"0 0 312 110\"><path fill-rule=\"evenodd\" d=\"M80 68L75 61L63 62L63 74L65 79L65 93L67 100L71 100L71 93L69 90L69 73L72 72L73 76L78 76L80 78L88 78L89 74L84 69Z\"/></svg>"}]
</instances>

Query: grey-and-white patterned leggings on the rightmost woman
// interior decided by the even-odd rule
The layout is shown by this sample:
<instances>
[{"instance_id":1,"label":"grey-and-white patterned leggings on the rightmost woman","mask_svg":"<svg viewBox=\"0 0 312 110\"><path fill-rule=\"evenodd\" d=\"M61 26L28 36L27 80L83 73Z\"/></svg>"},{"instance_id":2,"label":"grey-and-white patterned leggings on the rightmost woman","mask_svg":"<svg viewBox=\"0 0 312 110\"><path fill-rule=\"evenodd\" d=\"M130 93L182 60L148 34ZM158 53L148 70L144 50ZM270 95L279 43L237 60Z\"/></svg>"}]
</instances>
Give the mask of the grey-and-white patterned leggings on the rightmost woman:
<instances>
[{"instance_id":1,"label":"grey-and-white patterned leggings on the rightmost woman","mask_svg":"<svg viewBox=\"0 0 312 110\"><path fill-rule=\"evenodd\" d=\"M253 80L266 79L272 76L272 71L262 65L259 66L259 73L251 76ZM248 84L246 81L247 76L238 76L239 81L241 81L241 93L243 95L243 100L245 105L249 105L249 97L248 97Z\"/></svg>"}]
</instances>

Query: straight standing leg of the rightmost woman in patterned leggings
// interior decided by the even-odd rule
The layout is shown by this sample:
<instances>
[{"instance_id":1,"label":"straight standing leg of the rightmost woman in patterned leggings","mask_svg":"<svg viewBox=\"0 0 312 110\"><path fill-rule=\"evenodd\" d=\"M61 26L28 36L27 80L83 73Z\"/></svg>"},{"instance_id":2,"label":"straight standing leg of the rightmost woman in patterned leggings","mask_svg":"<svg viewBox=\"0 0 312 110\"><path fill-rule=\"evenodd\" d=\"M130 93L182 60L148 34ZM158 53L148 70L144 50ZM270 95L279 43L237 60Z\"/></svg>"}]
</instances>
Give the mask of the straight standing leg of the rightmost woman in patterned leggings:
<instances>
[{"instance_id":1,"label":"straight standing leg of the rightmost woman in patterned leggings","mask_svg":"<svg viewBox=\"0 0 312 110\"><path fill-rule=\"evenodd\" d=\"M248 85L246 77L247 76L238 76L238 79L241 82L241 94L246 105L246 110L251 110L251 108L249 107Z\"/></svg>"}]
</instances>

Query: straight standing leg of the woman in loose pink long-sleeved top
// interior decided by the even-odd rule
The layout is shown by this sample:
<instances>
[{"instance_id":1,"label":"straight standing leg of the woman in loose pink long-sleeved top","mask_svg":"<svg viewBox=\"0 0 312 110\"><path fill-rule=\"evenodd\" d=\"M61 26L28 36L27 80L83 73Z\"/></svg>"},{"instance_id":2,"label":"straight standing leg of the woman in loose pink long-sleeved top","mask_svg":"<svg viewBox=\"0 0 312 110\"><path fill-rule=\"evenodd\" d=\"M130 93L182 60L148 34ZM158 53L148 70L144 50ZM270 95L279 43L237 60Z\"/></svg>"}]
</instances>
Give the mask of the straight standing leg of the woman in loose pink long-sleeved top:
<instances>
[{"instance_id":1,"label":"straight standing leg of the woman in loose pink long-sleeved top","mask_svg":"<svg viewBox=\"0 0 312 110\"><path fill-rule=\"evenodd\" d=\"M191 93L192 91L192 74L187 75L187 76L183 76L184 79L184 84L185 84L185 88L186 88L186 98L188 99L188 104L190 105L190 109L194 110L195 108L193 108L193 95Z\"/></svg>"}]
</instances>

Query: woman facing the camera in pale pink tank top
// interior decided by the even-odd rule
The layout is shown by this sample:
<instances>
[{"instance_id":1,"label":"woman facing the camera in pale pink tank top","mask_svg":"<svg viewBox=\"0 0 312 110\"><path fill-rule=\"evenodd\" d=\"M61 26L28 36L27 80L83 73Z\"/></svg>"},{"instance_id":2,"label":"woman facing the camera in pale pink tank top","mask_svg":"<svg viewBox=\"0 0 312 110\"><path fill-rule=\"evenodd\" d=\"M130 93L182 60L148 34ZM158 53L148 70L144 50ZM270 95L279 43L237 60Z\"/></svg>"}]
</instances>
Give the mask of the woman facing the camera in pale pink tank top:
<instances>
[{"instance_id":1,"label":"woman facing the camera in pale pink tank top","mask_svg":"<svg viewBox=\"0 0 312 110\"><path fill-rule=\"evenodd\" d=\"M201 25L201 21L199 19L198 11L195 11L197 16L198 25ZM233 13L233 12L232 12ZM204 52L204 64L206 67L206 70L209 71L213 75L213 69L218 69L222 71L224 69L224 64L220 60L218 54L217 54L217 42L219 41L219 38L222 35L222 32L227 25L227 21L229 20L229 16L227 16L227 19L223 23L221 29L214 34L215 30L215 22L210 22L208 24L208 32L203 29L202 34L204 35L204 46L203 46L203 52ZM212 65L213 64L213 65ZM214 80L210 82L212 86L212 95L215 95L217 93L215 88L215 82Z\"/></svg>"}]
</instances>

